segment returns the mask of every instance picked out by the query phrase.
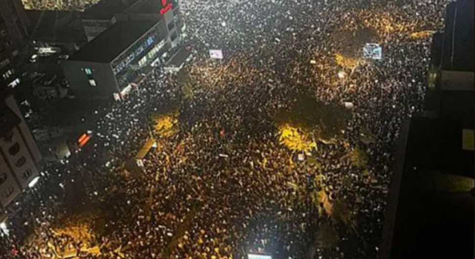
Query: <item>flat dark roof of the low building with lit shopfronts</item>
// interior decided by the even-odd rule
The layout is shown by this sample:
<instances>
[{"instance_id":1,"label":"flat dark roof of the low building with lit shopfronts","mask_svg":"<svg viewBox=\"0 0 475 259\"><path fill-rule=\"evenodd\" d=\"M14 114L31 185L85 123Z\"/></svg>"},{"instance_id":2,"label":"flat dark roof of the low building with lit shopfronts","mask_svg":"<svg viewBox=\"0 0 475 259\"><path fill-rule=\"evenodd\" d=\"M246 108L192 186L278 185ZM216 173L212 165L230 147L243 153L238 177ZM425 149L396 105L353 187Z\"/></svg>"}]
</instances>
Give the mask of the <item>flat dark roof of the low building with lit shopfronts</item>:
<instances>
[{"instance_id":1,"label":"flat dark roof of the low building with lit shopfronts","mask_svg":"<svg viewBox=\"0 0 475 259\"><path fill-rule=\"evenodd\" d=\"M157 22L116 22L84 45L69 60L109 63Z\"/></svg>"}]
</instances>

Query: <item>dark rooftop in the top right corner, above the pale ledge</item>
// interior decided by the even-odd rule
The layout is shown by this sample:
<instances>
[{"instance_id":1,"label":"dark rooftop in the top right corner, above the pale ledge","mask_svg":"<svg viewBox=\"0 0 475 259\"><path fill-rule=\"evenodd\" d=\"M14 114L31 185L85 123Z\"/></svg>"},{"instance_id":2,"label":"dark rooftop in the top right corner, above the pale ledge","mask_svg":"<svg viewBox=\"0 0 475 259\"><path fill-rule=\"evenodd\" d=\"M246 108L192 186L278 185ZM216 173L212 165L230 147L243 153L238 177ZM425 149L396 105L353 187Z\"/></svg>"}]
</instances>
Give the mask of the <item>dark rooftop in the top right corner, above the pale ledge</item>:
<instances>
[{"instance_id":1,"label":"dark rooftop in the top right corner, above the pale ledge","mask_svg":"<svg viewBox=\"0 0 475 259\"><path fill-rule=\"evenodd\" d=\"M474 38L474 1L451 2L446 9L441 68L475 71Z\"/></svg>"}]
</instances>

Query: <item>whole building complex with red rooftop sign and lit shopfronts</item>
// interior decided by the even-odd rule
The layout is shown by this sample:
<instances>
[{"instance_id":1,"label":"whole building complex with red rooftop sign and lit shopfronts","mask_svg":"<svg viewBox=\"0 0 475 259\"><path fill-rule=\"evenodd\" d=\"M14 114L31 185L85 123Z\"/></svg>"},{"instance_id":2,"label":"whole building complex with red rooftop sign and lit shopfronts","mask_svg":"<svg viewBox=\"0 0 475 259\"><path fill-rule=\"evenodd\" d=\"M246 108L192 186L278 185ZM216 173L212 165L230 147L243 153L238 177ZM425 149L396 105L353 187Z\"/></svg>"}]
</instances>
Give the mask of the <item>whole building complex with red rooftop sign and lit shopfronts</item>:
<instances>
[{"instance_id":1,"label":"whole building complex with red rooftop sign and lit shopfronts","mask_svg":"<svg viewBox=\"0 0 475 259\"><path fill-rule=\"evenodd\" d=\"M103 0L82 15L90 42L62 61L76 96L119 100L153 66L177 71L190 56L175 1Z\"/></svg>"}]
</instances>

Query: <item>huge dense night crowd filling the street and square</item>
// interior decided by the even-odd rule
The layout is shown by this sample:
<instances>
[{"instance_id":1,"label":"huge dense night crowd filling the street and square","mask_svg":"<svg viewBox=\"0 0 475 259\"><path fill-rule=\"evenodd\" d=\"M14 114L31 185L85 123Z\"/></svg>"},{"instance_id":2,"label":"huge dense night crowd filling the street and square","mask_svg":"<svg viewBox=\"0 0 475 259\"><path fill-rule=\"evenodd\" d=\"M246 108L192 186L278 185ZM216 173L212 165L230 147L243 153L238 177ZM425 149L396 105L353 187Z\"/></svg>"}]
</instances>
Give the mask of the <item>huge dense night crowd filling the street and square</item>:
<instances>
[{"instance_id":1,"label":"huge dense night crowd filling the street and square","mask_svg":"<svg viewBox=\"0 0 475 259\"><path fill-rule=\"evenodd\" d=\"M180 2L194 60L177 75L156 69L112 108L97 108L91 142L48 164L10 209L3 258L79 250L84 242L55 235L53 224L97 206L106 220L87 246L100 253L86 258L376 258L398 132L421 110L427 85L430 38L410 34L439 29L445 4ZM383 58L359 59L359 45L356 54L342 49L358 37L380 43ZM224 59L211 60L209 49ZM357 65L335 61L339 53ZM302 95L354 104L345 128L308 152L282 145L275 125L276 111ZM180 130L156 135L151 114L170 108ZM373 140L362 141L363 132ZM128 166L151 136L157 147L144 167ZM367 153L364 168L348 158L356 149ZM315 203L314 190L334 210Z\"/></svg>"}]
</instances>

